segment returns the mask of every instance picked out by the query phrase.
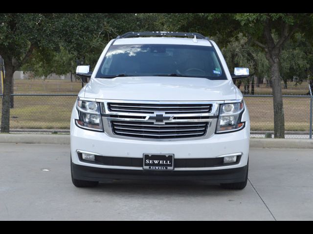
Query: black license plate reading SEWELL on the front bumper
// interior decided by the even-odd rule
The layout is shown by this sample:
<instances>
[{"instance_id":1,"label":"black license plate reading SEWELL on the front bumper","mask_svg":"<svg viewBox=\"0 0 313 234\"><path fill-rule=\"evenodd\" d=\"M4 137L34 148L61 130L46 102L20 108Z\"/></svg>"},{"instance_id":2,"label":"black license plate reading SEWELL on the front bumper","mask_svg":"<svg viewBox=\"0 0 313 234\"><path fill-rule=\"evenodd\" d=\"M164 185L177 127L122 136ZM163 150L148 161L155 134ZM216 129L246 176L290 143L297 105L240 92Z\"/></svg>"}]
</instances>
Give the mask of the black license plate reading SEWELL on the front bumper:
<instances>
[{"instance_id":1,"label":"black license plate reading SEWELL on the front bumper","mask_svg":"<svg viewBox=\"0 0 313 234\"><path fill-rule=\"evenodd\" d=\"M174 169L174 155L143 154L143 169L173 170Z\"/></svg>"}]
</instances>

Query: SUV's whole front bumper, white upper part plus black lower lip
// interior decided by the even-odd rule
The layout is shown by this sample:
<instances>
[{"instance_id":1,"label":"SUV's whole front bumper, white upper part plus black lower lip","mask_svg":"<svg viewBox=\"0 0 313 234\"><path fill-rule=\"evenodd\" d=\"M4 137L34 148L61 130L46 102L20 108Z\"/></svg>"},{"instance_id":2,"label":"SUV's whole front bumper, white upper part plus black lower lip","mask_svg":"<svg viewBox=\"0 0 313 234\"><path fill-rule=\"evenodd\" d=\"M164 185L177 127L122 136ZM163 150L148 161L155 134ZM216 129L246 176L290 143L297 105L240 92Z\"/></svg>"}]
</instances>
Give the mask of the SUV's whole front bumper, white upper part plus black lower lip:
<instances>
[{"instance_id":1,"label":"SUV's whole front bumper, white upper part plus black lower lip","mask_svg":"<svg viewBox=\"0 0 313 234\"><path fill-rule=\"evenodd\" d=\"M71 117L70 147L73 175L77 179L96 180L101 178L177 178L209 179L215 181L243 181L244 169L249 154L249 119L244 119L246 127L240 131L215 134L207 139L181 141L149 141L121 139L103 132L94 132L77 127L74 123L75 111ZM241 155L240 161L232 165L205 168L178 168L173 171L146 171L140 166L114 166L89 163L79 159L77 150L100 156L115 158L141 158L143 154L173 154L175 159L208 159L224 155ZM152 176L152 177L151 177ZM232 180L233 179L233 180Z\"/></svg>"}]
</instances>

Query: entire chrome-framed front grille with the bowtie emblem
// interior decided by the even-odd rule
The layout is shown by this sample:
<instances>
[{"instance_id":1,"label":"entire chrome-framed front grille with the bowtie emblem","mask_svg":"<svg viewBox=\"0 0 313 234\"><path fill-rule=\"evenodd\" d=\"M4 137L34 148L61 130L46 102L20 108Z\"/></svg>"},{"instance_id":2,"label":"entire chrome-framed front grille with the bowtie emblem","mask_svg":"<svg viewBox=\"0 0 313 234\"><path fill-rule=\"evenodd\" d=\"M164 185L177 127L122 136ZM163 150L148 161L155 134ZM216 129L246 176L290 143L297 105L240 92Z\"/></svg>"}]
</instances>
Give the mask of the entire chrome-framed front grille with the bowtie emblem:
<instances>
[{"instance_id":1,"label":"entire chrome-framed front grille with the bowtie emblem","mask_svg":"<svg viewBox=\"0 0 313 234\"><path fill-rule=\"evenodd\" d=\"M138 140L210 138L215 132L219 104L219 101L104 100L104 132L110 137Z\"/></svg>"}]
</instances>

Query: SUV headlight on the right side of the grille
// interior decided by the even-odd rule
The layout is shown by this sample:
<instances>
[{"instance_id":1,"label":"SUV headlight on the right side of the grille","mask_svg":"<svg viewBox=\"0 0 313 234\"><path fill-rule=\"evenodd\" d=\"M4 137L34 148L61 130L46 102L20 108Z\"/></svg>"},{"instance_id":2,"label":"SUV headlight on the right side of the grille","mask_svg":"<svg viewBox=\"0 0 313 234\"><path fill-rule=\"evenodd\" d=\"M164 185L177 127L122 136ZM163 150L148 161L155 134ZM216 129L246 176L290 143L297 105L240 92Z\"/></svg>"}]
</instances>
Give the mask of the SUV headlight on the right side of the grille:
<instances>
[{"instance_id":1,"label":"SUV headlight on the right side of the grille","mask_svg":"<svg viewBox=\"0 0 313 234\"><path fill-rule=\"evenodd\" d=\"M245 127L241 122L244 112L244 102L225 103L221 105L220 116L217 122L216 133L229 133Z\"/></svg>"}]
</instances>

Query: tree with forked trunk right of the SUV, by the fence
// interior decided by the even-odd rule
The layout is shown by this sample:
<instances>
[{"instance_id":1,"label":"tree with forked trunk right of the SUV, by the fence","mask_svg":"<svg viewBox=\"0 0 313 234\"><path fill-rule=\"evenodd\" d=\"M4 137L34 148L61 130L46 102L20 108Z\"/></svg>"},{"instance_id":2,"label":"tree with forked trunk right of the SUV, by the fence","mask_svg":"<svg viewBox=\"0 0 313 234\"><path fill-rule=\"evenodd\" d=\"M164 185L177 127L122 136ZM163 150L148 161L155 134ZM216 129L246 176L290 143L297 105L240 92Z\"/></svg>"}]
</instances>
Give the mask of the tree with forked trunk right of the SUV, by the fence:
<instances>
[{"instance_id":1,"label":"tree with forked trunk right of the SUV, by the fence","mask_svg":"<svg viewBox=\"0 0 313 234\"><path fill-rule=\"evenodd\" d=\"M286 42L295 32L312 34L313 14L238 13L241 30L265 53L270 66L273 93L274 137L285 137L285 118L280 79L280 59Z\"/></svg>"}]
</instances>

